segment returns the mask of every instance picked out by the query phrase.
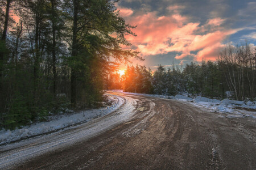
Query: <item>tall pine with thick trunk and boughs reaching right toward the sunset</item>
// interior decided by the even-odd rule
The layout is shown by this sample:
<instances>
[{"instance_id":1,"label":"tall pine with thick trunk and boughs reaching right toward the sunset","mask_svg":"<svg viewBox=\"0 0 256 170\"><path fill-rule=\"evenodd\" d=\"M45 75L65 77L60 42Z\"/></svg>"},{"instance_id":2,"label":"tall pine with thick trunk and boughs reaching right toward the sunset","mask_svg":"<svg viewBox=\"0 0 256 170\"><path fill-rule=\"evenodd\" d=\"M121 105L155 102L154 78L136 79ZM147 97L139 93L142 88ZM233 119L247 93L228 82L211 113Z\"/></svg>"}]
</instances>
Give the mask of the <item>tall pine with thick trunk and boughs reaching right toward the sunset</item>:
<instances>
[{"instance_id":1,"label":"tall pine with thick trunk and boughs reaching right toward the sunset","mask_svg":"<svg viewBox=\"0 0 256 170\"><path fill-rule=\"evenodd\" d=\"M131 45L125 35L134 35L135 28L115 11L116 1L72 1L72 53L76 60L81 53L95 54L94 57L109 61L113 57L117 61L127 62L130 57L138 57L138 52L122 50L120 45ZM65 5L70 3L65 1ZM67 12L67 14L69 14ZM71 17L69 17L70 19ZM116 37L112 37L112 35ZM83 56L86 57L86 56ZM72 59L71 59L72 60ZM73 62L72 62L73 63ZM86 63L85 63L86 64ZM76 105L76 70L74 63L71 71L71 103Z\"/></svg>"}]
</instances>

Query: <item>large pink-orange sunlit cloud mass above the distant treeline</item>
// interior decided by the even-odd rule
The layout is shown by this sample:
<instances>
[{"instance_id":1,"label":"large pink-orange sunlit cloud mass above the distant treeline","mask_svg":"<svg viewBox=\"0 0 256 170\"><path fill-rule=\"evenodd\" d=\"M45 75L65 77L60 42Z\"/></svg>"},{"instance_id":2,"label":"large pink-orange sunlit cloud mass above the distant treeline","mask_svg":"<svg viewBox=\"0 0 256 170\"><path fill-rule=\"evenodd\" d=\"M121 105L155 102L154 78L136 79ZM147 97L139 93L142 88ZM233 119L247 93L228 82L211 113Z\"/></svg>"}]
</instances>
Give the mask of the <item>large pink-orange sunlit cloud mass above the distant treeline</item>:
<instances>
[{"instance_id":1,"label":"large pink-orange sunlit cloud mass above the distant treeline","mask_svg":"<svg viewBox=\"0 0 256 170\"><path fill-rule=\"evenodd\" d=\"M180 8L182 7L168 7L169 10ZM143 15L131 15L127 18L127 23L137 25L133 30L137 37L127 36L126 38L137 46L136 50L141 52L142 57L179 52L181 54L175 56L176 59L192 56L196 61L201 61L202 58L212 60L217 58L221 42L236 32L236 30L221 27L225 19L210 19L204 25L200 25L199 22L188 23L188 20L187 16L177 13L158 16L156 11ZM195 51L199 52L191 53Z\"/></svg>"}]
</instances>

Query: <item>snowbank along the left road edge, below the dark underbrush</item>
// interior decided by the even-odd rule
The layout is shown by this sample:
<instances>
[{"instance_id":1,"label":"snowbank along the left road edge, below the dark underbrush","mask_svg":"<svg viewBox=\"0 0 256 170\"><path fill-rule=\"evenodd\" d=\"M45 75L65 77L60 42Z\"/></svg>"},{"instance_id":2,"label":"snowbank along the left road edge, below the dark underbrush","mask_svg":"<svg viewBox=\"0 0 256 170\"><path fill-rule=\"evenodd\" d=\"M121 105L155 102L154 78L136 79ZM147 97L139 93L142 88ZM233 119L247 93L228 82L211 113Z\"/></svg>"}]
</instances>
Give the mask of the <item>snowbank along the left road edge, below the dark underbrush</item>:
<instances>
[{"instance_id":1,"label":"snowbank along the left road edge, below the dark underbrush","mask_svg":"<svg viewBox=\"0 0 256 170\"><path fill-rule=\"evenodd\" d=\"M22 129L2 129L0 131L0 145L13 141L18 141L19 139L31 137L34 135L56 131L82 122L90 121L94 118L104 116L115 111L124 103L124 99L122 97L109 94L108 100L112 102L112 105L109 107L104 107L100 109L90 109L88 111L82 111L75 114L62 114L59 116L50 116L48 117L48 119L51 121L39 122L36 124L32 124L30 126L24 126Z\"/></svg>"}]
</instances>

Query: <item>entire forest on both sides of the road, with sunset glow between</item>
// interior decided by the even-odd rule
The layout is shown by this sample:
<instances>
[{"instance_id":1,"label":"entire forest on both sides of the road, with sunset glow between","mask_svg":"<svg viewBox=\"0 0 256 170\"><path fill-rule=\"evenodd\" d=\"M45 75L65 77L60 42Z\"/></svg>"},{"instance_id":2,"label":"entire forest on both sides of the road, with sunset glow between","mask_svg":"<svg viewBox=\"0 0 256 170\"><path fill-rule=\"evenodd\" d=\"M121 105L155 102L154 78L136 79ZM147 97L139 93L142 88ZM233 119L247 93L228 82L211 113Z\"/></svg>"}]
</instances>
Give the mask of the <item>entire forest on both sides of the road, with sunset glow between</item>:
<instances>
[{"instance_id":1,"label":"entire forest on both sides of the road, with sunset glow between","mask_svg":"<svg viewBox=\"0 0 256 170\"><path fill-rule=\"evenodd\" d=\"M218 60L154 73L127 35L137 36L116 0L6 0L0 6L0 126L44 121L67 108L99 107L104 90L255 100L255 48L227 45ZM227 93L227 91L229 93Z\"/></svg>"}]
</instances>

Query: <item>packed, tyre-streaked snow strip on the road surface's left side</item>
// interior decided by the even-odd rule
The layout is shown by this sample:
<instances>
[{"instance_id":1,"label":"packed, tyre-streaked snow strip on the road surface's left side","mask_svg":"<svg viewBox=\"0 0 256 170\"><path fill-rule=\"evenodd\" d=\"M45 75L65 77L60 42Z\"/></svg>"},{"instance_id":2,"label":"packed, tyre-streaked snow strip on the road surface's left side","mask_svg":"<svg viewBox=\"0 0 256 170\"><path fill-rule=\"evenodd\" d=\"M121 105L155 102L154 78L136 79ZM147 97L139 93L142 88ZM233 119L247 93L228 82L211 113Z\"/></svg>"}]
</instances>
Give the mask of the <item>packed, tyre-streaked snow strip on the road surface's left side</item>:
<instances>
[{"instance_id":1,"label":"packed, tyre-streaked snow strip on the road surface's left side","mask_svg":"<svg viewBox=\"0 0 256 170\"><path fill-rule=\"evenodd\" d=\"M135 106L137 106L138 103L132 97L120 97L119 95L110 96L113 96L117 100L117 103L115 103L116 106L113 107L112 111L102 112L104 108L102 108L101 111L100 109L94 110L94 112L99 112L99 115L100 113L106 113L105 116L57 130L52 133L38 135L33 138L27 138L19 142L0 146L0 169L11 169L11 165L22 164L35 156L68 147L74 145L74 143L78 144L84 142L106 130L113 129L117 125L130 120L134 114L139 112L135 109ZM150 110L144 112L144 116L147 117L154 114L154 103L152 102L152 105L150 105ZM11 133L11 131L6 132Z\"/></svg>"}]
</instances>

